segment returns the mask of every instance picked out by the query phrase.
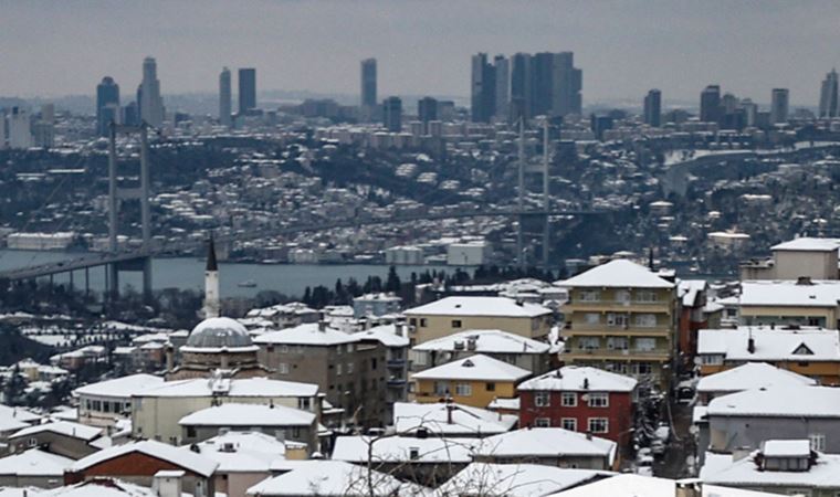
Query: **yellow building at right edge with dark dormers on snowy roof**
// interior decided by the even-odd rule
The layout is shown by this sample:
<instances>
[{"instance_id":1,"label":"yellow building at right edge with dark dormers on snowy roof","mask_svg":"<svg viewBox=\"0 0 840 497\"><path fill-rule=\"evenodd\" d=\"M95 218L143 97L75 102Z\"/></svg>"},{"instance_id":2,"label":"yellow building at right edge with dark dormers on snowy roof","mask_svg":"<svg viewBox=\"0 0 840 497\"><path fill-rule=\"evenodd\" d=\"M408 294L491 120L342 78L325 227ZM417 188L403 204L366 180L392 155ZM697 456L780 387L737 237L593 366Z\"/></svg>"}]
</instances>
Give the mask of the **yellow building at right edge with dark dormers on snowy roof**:
<instances>
[{"instance_id":1,"label":"yellow building at right edge with dark dormers on snowy roof","mask_svg":"<svg viewBox=\"0 0 840 497\"><path fill-rule=\"evenodd\" d=\"M840 384L840 338L836 330L755 326L702 329L697 358L704 377L747 362L767 362L821 384Z\"/></svg>"}]
</instances>

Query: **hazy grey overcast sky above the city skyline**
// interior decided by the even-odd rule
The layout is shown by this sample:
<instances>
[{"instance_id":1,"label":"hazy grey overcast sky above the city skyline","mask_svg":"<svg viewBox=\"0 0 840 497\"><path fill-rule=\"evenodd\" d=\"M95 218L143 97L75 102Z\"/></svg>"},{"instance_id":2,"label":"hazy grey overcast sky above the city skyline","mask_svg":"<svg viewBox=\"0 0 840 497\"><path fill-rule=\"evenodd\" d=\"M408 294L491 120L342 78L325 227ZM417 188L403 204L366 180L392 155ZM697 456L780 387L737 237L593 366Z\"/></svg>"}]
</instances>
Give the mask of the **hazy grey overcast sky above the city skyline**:
<instances>
[{"instance_id":1,"label":"hazy grey overcast sky above the city skyline","mask_svg":"<svg viewBox=\"0 0 840 497\"><path fill-rule=\"evenodd\" d=\"M134 92L143 57L164 94L216 92L254 66L259 89L468 95L470 55L574 51L585 104L699 98L703 86L816 105L840 62L838 0L0 0L0 95L92 94L104 75ZM235 85L235 80L234 80Z\"/></svg>"}]
</instances>

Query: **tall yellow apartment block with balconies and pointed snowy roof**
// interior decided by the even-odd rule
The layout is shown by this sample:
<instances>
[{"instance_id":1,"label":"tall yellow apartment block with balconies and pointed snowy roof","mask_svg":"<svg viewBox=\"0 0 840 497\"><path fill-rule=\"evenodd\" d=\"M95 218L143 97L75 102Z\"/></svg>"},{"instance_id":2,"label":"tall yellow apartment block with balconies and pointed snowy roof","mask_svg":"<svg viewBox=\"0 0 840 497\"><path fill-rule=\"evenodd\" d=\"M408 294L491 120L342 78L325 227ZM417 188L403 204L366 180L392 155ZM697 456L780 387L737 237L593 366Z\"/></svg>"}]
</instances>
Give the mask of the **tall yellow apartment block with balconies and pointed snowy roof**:
<instances>
[{"instance_id":1,"label":"tall yellow apartment block with balconies and pointed snowy roof","mask_svg":"<svg viewBox=\"0 0 840 497\"><path fill-rule=\"evenodd\" d=\"M666 387L675 349L675 285L647 267L616 260L558 283L563 307L563 359Z\"/></svg>"}]
</instances>

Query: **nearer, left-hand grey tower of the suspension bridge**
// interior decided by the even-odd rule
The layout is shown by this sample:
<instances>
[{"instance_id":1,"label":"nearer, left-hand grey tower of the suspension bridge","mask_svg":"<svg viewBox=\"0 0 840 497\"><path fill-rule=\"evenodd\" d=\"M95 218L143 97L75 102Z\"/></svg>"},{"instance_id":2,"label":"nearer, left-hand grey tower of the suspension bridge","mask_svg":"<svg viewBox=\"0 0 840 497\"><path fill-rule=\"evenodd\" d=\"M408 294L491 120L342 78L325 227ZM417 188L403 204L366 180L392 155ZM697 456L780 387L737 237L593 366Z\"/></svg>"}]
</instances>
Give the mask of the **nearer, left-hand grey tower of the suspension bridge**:
<instances>
[{"instance_id":1,"label":"nearer, left-hand grey tower of the suspension bridge","mask_svg":"<svg viewBox=\"0 0 840 497\"><path fill-rule=\"evenodd\" d=\"M122 188L117 182L117 134L139 135L140 137L140 176L139 186ZM140 201L140 231L143 244L136 258L114 262L108 265L105 278L106 292L112 299L119 297L119 272L143 272L143 295L146 302L151 300L151 214L149 210L149 142L148 125L124 126L111 124L111 140L108 144L108 252L116 255L120 252L118 244L118 222L120 200ZM127 250L127 248L124 248Z\"/></svg>"}]
</instances>

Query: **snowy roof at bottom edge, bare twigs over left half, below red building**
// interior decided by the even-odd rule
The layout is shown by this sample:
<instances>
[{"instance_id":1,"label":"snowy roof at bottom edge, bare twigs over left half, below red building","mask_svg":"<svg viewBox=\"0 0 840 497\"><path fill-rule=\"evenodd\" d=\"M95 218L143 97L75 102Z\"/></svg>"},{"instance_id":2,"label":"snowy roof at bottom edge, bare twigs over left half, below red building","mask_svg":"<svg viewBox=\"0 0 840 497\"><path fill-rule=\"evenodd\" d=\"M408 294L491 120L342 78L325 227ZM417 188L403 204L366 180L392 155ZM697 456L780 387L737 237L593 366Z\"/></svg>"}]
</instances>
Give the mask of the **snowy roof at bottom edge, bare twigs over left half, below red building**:
<instances>
[{"instance_id":1,"label":"snowy roof at bottom edge, bare twigs over left half, below red building","mask_svg":"<svg viewBox=\"0 0 840 497\"><path fill-rule=\"evenodd\" d=\"M542 464L472 463L441 485L435 495L545 497L555 491L576 487L610 474L608 472L569 469Z\"/></svg>"}]
</instances>

